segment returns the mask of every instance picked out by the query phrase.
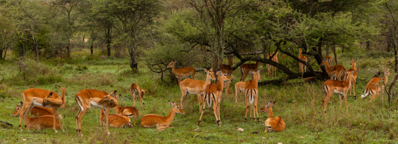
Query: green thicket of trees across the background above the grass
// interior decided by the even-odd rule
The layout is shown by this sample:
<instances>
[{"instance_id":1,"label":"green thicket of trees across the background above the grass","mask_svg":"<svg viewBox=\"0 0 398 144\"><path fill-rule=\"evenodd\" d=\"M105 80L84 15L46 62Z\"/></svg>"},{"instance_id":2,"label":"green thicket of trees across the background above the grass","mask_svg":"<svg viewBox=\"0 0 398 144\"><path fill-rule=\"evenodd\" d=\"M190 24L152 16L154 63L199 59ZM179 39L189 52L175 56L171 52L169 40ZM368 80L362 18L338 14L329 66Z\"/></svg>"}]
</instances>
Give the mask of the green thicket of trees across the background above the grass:
<instances>
[{"instance_id":1,"label":"green thicket of trees across the background above the grass","mask_svg":"<svg viewBox=\"0 0 398 144\"><path fill-rule=\"evenodd\" d=\"M0 56L71 59L72 49L86 45L92 54L104 45L107 56L128 58L133 71L143 63L154 72L167 72L171 60L217 69L234 56L240 62L233 69L259 61L286 74L263 83L281 82L323 78L318 65L337 50L394 53L398 71L397 26L396 0L0 0ZM262 56L241 55L252 52ZM274 52L309 71L266 59Z\"/></svg>"}]
</instances>

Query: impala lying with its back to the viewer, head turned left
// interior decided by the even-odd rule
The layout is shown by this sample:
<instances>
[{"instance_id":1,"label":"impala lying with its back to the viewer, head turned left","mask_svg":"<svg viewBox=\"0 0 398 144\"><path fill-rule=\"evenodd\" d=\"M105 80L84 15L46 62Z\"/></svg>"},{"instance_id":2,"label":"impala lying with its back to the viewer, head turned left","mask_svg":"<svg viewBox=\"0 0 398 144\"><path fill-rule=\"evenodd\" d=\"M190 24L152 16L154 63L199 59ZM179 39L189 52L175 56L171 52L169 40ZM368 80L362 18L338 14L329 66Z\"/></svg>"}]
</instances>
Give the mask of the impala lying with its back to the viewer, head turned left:
<instances>
[{"instance_id":1,"label":"impala lying with its back to the viewer, head turned left","mask_svg":"<svg viewBox=\"0 0 398 144\"><path fill-rule=\"evenodd\" d=\"M268 115L268 119L265 121L265 130L264 132L282 132L285 130L285 122L282 120L280 116L274 116L272 113L272 106L274 106L274 102L268 102L268 104L264 105L260 108L260 112L265 112Z\"/></svg>"}]
</instances>

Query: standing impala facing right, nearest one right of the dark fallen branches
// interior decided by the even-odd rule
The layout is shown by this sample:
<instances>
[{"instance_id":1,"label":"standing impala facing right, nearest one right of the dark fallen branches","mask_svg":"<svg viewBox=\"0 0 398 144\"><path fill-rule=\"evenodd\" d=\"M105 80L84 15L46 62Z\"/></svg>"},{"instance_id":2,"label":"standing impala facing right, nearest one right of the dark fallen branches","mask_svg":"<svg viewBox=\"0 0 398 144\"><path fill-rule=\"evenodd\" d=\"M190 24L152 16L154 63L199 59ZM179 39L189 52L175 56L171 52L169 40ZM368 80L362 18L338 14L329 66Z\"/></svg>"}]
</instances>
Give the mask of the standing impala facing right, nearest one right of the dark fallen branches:
<instances>
[{"instance_id":1,"label":"standing impala facing right, nearest one right of the dark fallen branches","mask_svg":"<svg viewBox=\"0 0 398 144\"><path fill-rule=\"evenodd\" d=\"M326 63L327 65L327 63ZM348 72L347 72L348 73ZM339 101L340 101L340 106L341 106L341 100L344 98L345 102L345 108L348 110L347 107L347 93L348 89L351 87L351 81L352 81L352 73L348 73L348 77L345 81L339 81L339 80L333 80L329 79L323 82L322 88L323 88L323 110L326 113L326 104L329 98L333 95L333 93L336 93L339 95ZM343 97L341 97L343 95Z\"/></svg>"}]
</instances>

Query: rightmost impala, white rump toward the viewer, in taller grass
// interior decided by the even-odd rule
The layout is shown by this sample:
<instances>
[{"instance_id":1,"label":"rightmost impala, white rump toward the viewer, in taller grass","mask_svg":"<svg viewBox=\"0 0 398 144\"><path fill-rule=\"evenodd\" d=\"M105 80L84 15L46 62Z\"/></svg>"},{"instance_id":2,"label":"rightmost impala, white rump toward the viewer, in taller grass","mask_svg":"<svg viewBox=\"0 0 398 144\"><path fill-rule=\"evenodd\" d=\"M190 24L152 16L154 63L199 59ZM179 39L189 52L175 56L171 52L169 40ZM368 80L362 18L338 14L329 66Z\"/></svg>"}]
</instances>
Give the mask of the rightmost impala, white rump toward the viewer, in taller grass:
<instances>
[{"instance_id":1,"label":"rightmost impala, white rump toward the viewer, in taller grass","mask_svg":"<svg viewBox=\"0 0 398 144\"><path fill-rule=\"evenodd\" d=\"M373 77L370 79L368 84L365 87L365 94L362 94L361 97L364 99L366 96L369 94L372 95L372 97L369 98L369 101L372 101L372 99L375 99L377 95L379 95L379 92L382 91L384 94L384 87L387 85L387 82L389 80L388 75L390 75L391 72L389 69L386 69L384 71L383 77ZM383 98L383 96L382 96Z\"/></svg>"}]
</instances>

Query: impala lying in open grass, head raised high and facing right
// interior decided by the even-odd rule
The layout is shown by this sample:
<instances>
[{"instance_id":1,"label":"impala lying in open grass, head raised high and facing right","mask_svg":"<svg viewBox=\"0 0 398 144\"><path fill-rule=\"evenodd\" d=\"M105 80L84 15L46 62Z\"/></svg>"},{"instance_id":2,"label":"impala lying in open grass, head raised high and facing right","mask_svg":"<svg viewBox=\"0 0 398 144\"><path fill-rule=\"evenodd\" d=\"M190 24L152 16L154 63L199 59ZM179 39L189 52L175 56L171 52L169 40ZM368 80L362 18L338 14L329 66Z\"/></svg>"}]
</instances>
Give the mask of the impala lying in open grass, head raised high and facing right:
<instances>
[{"instance_id":1,"label":"impala lying in open grass, head raised high and facing right","mask_svg":"<svg viewBox=\"0 0 398 144\"><path fill-rule=\"evenodd\" d=\"M147 114L141 119L141 127L144 128L158 128L157 131L163 131L170 126L171 122L173 122L175 113L185 115L185 112L179 107L175 102L168 101L168 103L172 106L170 113L166 117Z\"/></svg>"}]
</instances>

